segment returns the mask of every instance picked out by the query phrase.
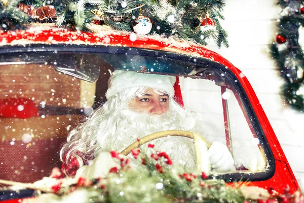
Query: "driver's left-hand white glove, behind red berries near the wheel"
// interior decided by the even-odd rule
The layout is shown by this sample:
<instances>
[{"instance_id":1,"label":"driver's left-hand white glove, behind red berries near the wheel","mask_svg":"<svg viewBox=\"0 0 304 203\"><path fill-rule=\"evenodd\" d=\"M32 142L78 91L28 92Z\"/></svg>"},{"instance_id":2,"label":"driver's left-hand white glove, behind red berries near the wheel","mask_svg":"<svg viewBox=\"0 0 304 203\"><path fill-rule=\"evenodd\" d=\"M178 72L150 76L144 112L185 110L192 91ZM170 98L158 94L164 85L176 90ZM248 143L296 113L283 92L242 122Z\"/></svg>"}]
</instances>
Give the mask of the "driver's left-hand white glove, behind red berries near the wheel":
<instances>
[{"instance_id":1,"label":"driver's left-hand white glove, behind red berries near the wheel","mask_svg":"<svg viewBox=\"0 0 304 203\"><path fill-rule=\"evenodd\" d=\"M102 152L93 160L92 164L84 165L79 168L75 178L105 178L112 167L117 167L119 169L121 167L120 160L118 158L112 158L109 152Z\"/></svg>"}]
</instances>

